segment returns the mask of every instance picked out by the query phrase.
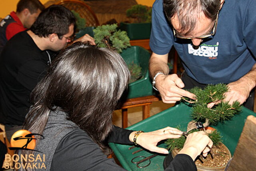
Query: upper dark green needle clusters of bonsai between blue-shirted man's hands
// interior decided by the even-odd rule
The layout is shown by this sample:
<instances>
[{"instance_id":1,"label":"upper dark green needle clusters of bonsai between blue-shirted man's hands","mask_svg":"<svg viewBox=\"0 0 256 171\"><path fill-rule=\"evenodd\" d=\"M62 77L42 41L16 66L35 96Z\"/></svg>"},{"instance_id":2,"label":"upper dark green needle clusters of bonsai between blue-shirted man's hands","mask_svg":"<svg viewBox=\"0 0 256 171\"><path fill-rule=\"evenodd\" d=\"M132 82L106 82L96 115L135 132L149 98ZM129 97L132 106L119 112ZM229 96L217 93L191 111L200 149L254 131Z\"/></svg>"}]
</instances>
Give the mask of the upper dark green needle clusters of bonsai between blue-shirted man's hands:
<instances>
[{"instance_id":1,"label":"upper dark green needle clusters of bonsai between blue-shirted man's hands","mask_svg":"<svg viewBox=\"0 0 256 171\"><path fill-rule=\"evenodd\" d=\"M208 103L224 99L224 93L228 92L228 86L225 84L208 85L204 89L195 87L189 91L196 95L196 100L188 98L182 98L182 100L193 105L191 116L196 121L205 122L208 120L209 124L216 125L219 121L229 120L241 111L238 101L232 105L228 102L220 102L212 108L207 108Z\"/></svg>"}]
</instances>

